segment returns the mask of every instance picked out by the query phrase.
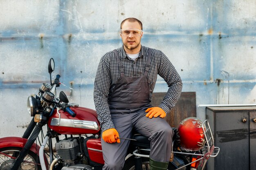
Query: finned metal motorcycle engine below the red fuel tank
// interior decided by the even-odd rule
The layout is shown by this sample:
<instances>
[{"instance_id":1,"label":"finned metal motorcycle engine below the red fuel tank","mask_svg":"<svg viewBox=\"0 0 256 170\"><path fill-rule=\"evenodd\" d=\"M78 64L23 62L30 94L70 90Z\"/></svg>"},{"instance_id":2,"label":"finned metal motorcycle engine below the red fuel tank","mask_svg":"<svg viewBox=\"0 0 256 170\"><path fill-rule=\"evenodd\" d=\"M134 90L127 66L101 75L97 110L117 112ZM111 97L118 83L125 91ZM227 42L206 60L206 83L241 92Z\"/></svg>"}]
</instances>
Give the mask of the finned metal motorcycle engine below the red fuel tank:
<instances>
[{"instance_id":1,"label":"finned metal motorcycle engine below the red fuel tank","mask_svg":"<svg viewBox=\"0 0 256 170\"><path fill-rule=\"evenodd\" d=\"M81 155L85 152L83 140L83 137L69 137L55 144L57 155L62 163L70 166L81 159Z\"/></svg>"}]
</instances>

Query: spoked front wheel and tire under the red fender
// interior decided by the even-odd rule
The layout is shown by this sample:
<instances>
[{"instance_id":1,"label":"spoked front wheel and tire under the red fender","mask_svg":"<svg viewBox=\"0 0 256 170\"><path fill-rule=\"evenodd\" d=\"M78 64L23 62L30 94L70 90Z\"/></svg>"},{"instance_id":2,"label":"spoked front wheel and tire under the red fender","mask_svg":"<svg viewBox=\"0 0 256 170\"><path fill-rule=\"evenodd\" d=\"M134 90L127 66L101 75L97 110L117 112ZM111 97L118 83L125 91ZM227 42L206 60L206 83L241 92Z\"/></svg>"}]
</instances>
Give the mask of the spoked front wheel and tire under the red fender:
<instances>
[{"instance_id":1,"label":"spoked front wheel and tire under the red fender","mask_svg":"<svg viewBox=\"0 0 256 170\"><path fill-rule=\"evenodd\" d=\"M9 170L11 169L9 164L13 163L15 159L11 157L18 157L22 148L19 147L6 147L0 149L0 170ZM5 154L5 155L3 155ZM16 155L17 154L17 155ZM11 157L8 157L9 155ZM42 170L40 164L39 157L34 153L29 151L24 161L21 163L21 168L18 170Z\"/></svg>"}]
</instances>

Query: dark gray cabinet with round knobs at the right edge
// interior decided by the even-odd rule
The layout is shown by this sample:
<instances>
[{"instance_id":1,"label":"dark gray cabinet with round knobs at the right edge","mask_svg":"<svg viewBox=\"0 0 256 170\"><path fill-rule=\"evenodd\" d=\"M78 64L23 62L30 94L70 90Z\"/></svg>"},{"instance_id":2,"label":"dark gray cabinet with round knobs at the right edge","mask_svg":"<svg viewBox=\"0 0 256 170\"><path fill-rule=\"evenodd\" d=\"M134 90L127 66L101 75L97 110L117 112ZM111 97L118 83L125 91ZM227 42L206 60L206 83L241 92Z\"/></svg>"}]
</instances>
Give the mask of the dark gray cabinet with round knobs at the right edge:
<instances>
[{"instance_id":1,"label":"dark gray cabinet with round knobs at the right edge","mask_svg":"<svg viewBox=\"0 0 256 170\"><path fill-rule=\"evenodd\" d=\"M219 155L207 170L256 170L256 106L207 107Z\"/></svg>"}]
</instances>

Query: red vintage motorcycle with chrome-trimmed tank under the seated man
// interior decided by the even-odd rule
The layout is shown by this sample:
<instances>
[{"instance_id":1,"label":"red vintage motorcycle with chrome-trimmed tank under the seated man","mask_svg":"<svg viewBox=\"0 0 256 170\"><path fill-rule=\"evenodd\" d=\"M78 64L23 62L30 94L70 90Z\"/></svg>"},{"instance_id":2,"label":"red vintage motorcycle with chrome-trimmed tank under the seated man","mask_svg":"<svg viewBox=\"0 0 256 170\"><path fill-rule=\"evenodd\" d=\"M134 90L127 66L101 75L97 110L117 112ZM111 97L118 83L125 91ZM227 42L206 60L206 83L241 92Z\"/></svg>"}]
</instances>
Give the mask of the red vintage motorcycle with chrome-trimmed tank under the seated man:
<instances>
[{"instance_id":1,"label":"red vintage motorcycle with chrome-trimmed tank under the seated man","mask_svg":"<svg viewBox=\"0 0 256 170\"><path fill-rule=\"evenodd\" d=\"M48 64L51 84L43 83L38 95L28 97L27 109L33 118L24 135L0 138L0 170L102 170L104 160L97 113L90 108L68 104L63 91L59 97L55 97L56 87L60 86L60 75L56 75L52 82L54 66L51 58ZM195 119L190 118L188 121L195 124ZM184 129L191 129L184 124L185 121L178 129L173 128L175 136L168 170L204 169L207 160L216 157L220 151L213 145L209 123L207 120L200 122L195 131L200 132L195 135L184 132ZM42 130L45 125L46 135ZM38 140L38 145L35 141L40 133L43 142ZM201 142L195 142L197 146L200 144L200 148L188 146L186 137L189 134L192 134L192 139L199 134ZM64 139L60 139L59 136L63 135ZM136 132L132 139L120 139L131 140L123 170L149 170L150 141ZM45 146L49 146L48 152Z\"/></svg>"}]
</instances>

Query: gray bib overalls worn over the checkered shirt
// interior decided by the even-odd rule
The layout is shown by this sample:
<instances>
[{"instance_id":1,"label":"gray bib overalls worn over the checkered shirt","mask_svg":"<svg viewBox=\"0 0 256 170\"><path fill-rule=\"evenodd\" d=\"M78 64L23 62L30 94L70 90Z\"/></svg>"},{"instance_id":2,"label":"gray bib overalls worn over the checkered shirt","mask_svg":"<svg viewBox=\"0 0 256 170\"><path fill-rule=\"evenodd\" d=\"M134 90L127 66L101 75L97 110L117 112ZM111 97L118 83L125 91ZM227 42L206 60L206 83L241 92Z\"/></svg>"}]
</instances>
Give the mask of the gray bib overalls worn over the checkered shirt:
<instances>
[{"instance_id":1,"label":"gray bib overalls worn over the checkered shirt","mask_svg":"<svg viewBox=\"0 0 256 170\"><path fill-rule=\"evenodd\" d=\"M144 75L141 77L125 77L124 66L117 50L114 50L121 77L109 101L113 124L119 137L131 138L132 130L151 140L150 158L160 162L169 162L172 149L173 130L162 118L148 118L145 110L152 107L149 100L148 71L150 68L151 49ZM108 144L101 139L105 165L103 170L121 170L124 166L129 140L120 139L120 143Z\"/></svg>"}]
</instances>

